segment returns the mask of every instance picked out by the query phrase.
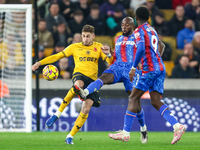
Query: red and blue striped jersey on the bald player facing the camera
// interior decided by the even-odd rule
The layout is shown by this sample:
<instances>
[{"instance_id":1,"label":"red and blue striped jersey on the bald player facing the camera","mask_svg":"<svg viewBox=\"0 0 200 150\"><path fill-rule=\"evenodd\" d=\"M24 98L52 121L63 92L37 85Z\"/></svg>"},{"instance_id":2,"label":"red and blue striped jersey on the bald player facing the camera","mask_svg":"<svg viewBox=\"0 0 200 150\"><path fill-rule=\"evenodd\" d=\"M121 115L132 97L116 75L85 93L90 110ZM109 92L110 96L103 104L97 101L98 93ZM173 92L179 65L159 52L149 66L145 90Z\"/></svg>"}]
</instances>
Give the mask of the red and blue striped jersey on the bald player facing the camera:
<instances>
[{"instance_id":1,"label":"red and blue striped jersey on the bald player facing the camera","mask_svg":"<svg viewBox=\"0 0 200 150\"><path fill-rule=\"evenodd\" d=\"M136 53L134 34L130 36L120 35L115 38L114 62L115 64L133 65Z\"/></svg>"}]
</instances>

